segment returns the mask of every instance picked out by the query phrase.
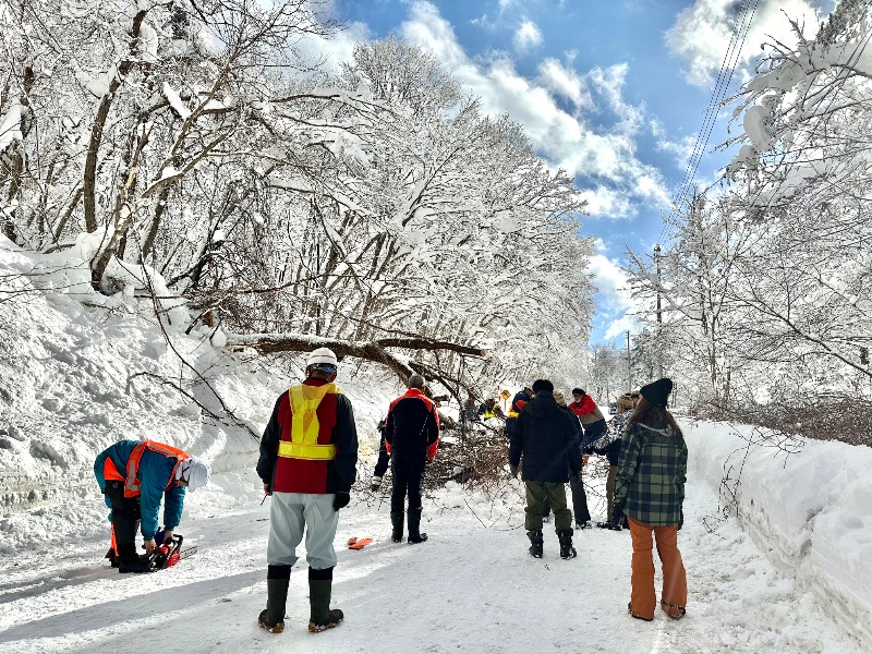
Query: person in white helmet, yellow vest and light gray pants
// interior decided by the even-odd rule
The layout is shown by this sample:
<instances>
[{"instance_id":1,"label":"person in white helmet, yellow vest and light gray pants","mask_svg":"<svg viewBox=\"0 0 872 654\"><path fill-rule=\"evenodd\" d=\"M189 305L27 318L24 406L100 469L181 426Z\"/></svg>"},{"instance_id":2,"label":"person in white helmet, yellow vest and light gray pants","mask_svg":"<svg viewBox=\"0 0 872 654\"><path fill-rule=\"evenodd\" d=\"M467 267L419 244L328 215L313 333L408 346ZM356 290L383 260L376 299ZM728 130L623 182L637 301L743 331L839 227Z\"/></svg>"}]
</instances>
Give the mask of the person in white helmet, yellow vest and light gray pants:
<instances>
[{"instance_id":1,"label":"person in white helmet, yellow vest and light gray pants","mask_svg":"<svg viewBox=\"0 0 872 654\"><path fill-rule=\"evenodd\" d=\"M306 536L308 630L342 621L330 609L337 511L356 477L358 429L351 401L334 384L338 361L328 348L306 359L306 379L281 393L261 440L257 474L271 496L267 543L267 603L257 618L271 633L284 629L284 608L296 546Z\"/></svg>"}]
</instances>

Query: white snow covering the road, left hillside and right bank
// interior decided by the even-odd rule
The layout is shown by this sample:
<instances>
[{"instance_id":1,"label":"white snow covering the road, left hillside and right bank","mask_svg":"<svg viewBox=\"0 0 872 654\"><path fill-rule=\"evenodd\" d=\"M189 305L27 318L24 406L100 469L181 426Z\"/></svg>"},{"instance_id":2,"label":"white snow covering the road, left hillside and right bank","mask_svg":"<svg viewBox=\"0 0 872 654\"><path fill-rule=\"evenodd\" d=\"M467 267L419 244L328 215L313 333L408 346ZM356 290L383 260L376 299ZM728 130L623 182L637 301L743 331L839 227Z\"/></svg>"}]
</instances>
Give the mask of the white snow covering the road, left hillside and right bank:
<instances>
[{"instance_id":1,"label":"white snow covering the road, left hillside and right bank","mask_svg":"<svg viewBox=\"0 0 872 654\"><path fill-rule=\"evenodd\" d=\"M7 246L8 243L7 243ZM61 271L49 271L56 265ZM37 267L36 280L14 277ZM808 443L797 453L754 445L753 431L685 422L691 452L686 524L688 616L643 623L626 614L628 532L577 533L579 558L526 554L523 494L457 484L426 499L420 546L389 540L389 498L361 489L340 513L334 605L344 623L314 635L305 562L291 577L288 627L256 616L266 597L268 502L253 471L259 433L290 382L255 358L210 344L213 330L162 323L173 348L220 389L237 426L204 417L169 385L219 412L167 344L148 304L89 290L69 255L0 249L0 651L21 652L680 652L859 654L872 642L872 450ZM34 289L38 283L41 288ZM29 286L28 286L29 284ZM145 308L144 308L145 307ZM178 317L178 316L177 316ZM148 373L131 379L131 376ZM166 383L161 383L162 379ZM371 470L374 424L399 389L389 376L343 366ZM149 576L102 560L106 507L90 465L122 437L154 437L204 456L213 482L191 494L179 531L196 556ZM726 469L725 469L726 464ZM720 508L725 470L740 473L738 518ZM603 480L588 480L591 511ZM735 489L732 483L726 485ZM361 552L352 536L372 536Z\"/></svg>"}]
</instances>

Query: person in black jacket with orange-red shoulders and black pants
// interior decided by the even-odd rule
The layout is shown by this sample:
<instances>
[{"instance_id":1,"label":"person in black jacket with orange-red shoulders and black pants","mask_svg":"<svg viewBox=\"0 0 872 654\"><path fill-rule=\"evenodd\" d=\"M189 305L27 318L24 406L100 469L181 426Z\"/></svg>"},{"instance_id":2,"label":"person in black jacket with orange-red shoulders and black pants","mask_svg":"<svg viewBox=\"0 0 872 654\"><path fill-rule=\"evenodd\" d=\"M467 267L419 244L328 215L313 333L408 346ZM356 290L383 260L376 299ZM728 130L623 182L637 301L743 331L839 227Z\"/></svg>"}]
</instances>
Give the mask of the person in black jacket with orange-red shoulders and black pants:
<instances>
[{"instance_id":1,"label":"person in black jacket with orange-red shoulders and black pants","mask_svg":"<svg viewBox=\"0 0 872 654\"><path fill-rule=\"evenodd\" d=\"M390 403L385 421L385 443L391 456L393 492L390 496L391 541L402 541L403 508L409 495L409 543L423 543L421 483L424 468L433 463L439 446L439 416L424 388L424 377L409 377L409 390Z\"/></svg>"}]
</instances>

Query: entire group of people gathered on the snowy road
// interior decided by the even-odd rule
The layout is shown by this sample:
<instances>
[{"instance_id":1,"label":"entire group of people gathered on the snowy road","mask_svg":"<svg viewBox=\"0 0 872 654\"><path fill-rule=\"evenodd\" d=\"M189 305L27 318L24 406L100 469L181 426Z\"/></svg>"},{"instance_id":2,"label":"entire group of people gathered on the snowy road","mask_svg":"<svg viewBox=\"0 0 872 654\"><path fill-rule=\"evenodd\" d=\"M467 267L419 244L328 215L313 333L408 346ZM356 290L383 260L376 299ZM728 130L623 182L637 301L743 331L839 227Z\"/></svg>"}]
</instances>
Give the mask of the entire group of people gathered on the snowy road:
<instances>
[{"instance_id":1,"label":"entire group of people gathered on the snowy road","mask_svg":"<svg viewBox=\"0 0 872 654\"><path fill-rule=\"evenodd\" d=\"M305 379L282 392L261 440L257 474L271 497L267 542L267 601L258 625L272 633L284 629L291 568L305 537L308 564L308 630L338 626L343 614L330 608L334 540L338 511L350 500L356 477L358 433L350 400L335 384L336 354L314 350L306 360ZM573 388L572 402L548 379L537 379L512 397L507 414L494 398L483 403L470 396L463 417L505 420L508 464L521 475L526 496L524 528L529 552L542 558L543 525L554 513L560 557L572 559L574 529L591 526L583 467L590 455L605 456L607 514L597 526L620 531L629 526L633 545L631 598L628 611L652 620L656 607L653 547L663 565L661 608L673 618L685 615L687 581L677 533L683 523L687 446L666 410L673 383L657 379L618 401L611 435L596 402ZM508 395L505 396L508 398ZM408 390L395 399L378 425L379 456L371 488L382 486L391 469L391 540L420 544L422 481L439 446L439 414L425 379L413 374ZM95 475L111 508L112 547L107 557L121 572L144 572L156 546L158 512L165 505L164 538L181 519L185 491L204 486L210 469L204 461L171 446L124 440L101 452ZM572 509L567 505L570 485ZM574 516L574 518L573 518ZM135 549L142 522L146 555Z\"/></svg>"}]
</instances>

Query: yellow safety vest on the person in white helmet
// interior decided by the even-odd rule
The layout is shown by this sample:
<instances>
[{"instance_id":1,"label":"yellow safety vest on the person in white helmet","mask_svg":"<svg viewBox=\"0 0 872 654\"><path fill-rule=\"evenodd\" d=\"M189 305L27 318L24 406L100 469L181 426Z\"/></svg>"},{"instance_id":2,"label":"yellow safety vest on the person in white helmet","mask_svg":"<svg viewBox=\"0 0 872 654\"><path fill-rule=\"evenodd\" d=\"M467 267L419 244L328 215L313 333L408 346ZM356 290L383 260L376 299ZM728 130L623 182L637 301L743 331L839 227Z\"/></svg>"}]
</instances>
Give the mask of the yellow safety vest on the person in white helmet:
<instances>
[{"instance_id":1,"label":"yellow safety vest on the person in white helmet","mask_svg":"<svg viewBox=\"0 0 872 654\"><path fill-rule=\"evenodd\" d=\"M308 386L301 384L288 389L291 404L291 429L289 439L279 441L279 457L284 459L303 459L305 461L332 461L336 459L336 446L318 443L320 423L318 423L318 404L327 393L341 395L336 384Z\"/></svg>"}]
</instances>

